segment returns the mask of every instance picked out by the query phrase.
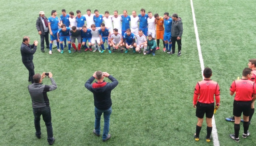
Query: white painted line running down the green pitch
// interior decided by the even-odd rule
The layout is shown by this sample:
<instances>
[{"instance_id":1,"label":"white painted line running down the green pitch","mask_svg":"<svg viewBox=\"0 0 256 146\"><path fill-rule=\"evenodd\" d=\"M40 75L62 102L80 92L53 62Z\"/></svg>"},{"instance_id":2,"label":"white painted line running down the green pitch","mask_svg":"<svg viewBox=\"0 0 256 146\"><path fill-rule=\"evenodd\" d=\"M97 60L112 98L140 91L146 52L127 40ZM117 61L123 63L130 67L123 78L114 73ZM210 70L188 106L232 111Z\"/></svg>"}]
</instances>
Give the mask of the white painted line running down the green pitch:
<instances>
[{"instance_id":1,"label":"white painted line running down the green pitch","mask_svg":"<svg viewBox=\"0 0 256 146\"><path fill-rule=\"evenodd\" d=\"M192 15L193 15L193 21L194 21L194 28L195 28L195 34L196 34L197 50L198 50L198 55L199 55L199 60L200 60L200 65L201 65L201 73L202 73L202 77L203 77L204 63L203 63L203 56L202 56L202 52L201 52L201 46L200 46L198 31L197 31L197 24L196 24L195 12L194 12L193 0L190 0L190 3L191 3L191 9L192 9ZM217 133L217 129L216 129L214 115L212 117L212 137L213 137L213 145L214 146L219 146L218 133Z\"/></svg>"}]
</instances>

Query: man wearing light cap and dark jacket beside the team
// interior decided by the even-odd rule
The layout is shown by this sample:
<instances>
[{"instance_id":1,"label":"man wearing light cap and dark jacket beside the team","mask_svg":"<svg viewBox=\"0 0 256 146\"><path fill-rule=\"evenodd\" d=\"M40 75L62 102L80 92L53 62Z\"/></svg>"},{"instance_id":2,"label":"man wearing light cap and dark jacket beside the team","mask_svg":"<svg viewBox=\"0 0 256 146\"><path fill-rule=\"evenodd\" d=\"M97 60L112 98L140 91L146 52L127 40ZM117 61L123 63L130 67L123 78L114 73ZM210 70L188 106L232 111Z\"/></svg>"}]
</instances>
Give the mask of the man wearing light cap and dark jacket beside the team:
<instances>
[{"instance_id":1,"label":"man wearing light cap and dark jacket beside the team","mask_svg":"<svg viewBox=\"0 0 256 146\"><path fill-rule=\"evenodd\" d=\"M41 51L44 52L44 39L46 43L46 48L49 49L49 29L47 18L44 16L44 11L39 12L39 17L37 18L37 23L35 26L37 27L38 34L41 38Z\"/></svg>"}]
</instances>

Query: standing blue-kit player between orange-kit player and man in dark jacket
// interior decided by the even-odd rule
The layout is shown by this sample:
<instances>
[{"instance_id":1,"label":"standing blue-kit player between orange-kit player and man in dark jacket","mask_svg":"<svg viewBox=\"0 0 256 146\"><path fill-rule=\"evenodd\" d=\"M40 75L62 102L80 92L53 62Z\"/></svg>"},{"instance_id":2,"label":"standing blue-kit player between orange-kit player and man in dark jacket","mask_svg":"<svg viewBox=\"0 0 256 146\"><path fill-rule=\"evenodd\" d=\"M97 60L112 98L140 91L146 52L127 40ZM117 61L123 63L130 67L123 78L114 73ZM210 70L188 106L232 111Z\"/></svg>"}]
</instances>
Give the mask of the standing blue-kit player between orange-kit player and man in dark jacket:
<instances>
[{"instance_id":1,"label":"standing blue-kit player between orange-kit player and man in dark jacket","mask_svg":"<svg viewBox=\"0 0 256 146\"><path fill-rule=\"evenodd\" d=\"M169 17L169 13L165 12L163 14L163 25L165 26L165 33L163 34L163 41L165 41L165 48L168 54L172 52L172 41L171 41L171 30L172 30L172 18ZM169 49L168 49L169 43Z\"/></svg>"}]
</instances>

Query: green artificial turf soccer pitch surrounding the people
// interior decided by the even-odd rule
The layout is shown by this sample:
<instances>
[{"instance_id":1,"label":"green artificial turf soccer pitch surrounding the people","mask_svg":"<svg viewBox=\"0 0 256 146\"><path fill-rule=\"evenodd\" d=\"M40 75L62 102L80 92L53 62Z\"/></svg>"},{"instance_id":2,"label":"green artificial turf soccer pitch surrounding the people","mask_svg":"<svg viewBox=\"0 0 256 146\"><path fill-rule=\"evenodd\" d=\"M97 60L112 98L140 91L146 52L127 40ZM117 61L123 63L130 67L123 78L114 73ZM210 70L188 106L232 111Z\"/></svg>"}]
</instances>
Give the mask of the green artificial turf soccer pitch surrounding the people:
<instances>
[{"instance_id":1,"label":"green artificial turf soccer pitch surrounding the people","mask_svg":"<svg viewBox=\"0 0 256 146\"><path fill-rule=\"evenodd\" d=\"M212 79L221 88L221 106L214 115L219 145L255 145L256 116L249 127L251 135L240 142L229 138L233 123L225 117L232 115L233 98L229 87L241 77L248 59L255 58L256 34L253 0L193 0L204 67L213 71ZM1 63L0 63L0 145L47 145L47 133L41 119L42 138L34 135L31 98L28 93L28 71L24 67L20 44L26 35L39 40L35 22L39 11L48 18L52 10L66 12L90 8L100 14L123 10L131 15L140 14L144 8L163 16L164 12L177 13L182 18L182 55L156 51L156 56L113 52L65 52L53 49L49 55L40 51L40 43L34 54L35 73L52 72L58 88L49 92L52 112L54 145L111 145L111 146L213 146L205 141L206 122L200 132L200 140L193 138L197 117L193 108L193 92L197 81L202 80L197 41L189 0L173 1L3 1L0 6ZM71 49L72 50L72 49ZM73 51L73 50L72 50ZM83 50L82 50L83 51ZM94 99L85 87L85 81L97 70L108 72L118 81L112 91L110 118L111 139L105 143L93 134ZM110 81L109 79L105 79ZM43 79L44 84L51 84ZM102 117L103 119L103 117ZM101 121L103 128L103 121ZM103 130L101 128L101 130ZM101 131L102 132L102 131ZM102 133L101 133L102 134Z\"/></svg>"}]
</instances>

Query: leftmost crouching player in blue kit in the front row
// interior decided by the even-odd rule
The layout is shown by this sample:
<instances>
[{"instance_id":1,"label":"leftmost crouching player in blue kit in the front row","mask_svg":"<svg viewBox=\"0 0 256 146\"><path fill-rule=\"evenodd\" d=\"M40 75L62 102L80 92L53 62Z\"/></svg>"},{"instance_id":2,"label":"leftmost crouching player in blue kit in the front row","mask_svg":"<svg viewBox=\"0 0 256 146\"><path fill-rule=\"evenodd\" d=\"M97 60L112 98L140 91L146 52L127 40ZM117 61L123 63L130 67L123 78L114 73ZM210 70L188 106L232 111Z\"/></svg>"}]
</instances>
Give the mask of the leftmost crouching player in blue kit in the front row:
<instances>
[{"instance_id":1,"label":"leftmost crouching player in blue kit in the front row","mask_svg":"<svg viewBox=\"0 0 256 146\"><path fill-rule=\"evenodd\" d=\"M65 24L62 24L60 26L60 29L57 33L58 41L60 42L60 48L61 48L61 54L63 53L63 40L68 40L68 46L69 46L69 53L71 53L71 44L70 44L70 27L66 27Z\"/></svg>"}]
</instances>

